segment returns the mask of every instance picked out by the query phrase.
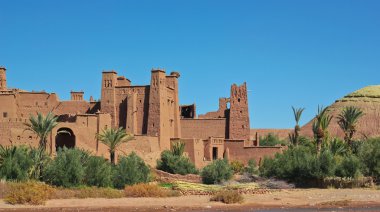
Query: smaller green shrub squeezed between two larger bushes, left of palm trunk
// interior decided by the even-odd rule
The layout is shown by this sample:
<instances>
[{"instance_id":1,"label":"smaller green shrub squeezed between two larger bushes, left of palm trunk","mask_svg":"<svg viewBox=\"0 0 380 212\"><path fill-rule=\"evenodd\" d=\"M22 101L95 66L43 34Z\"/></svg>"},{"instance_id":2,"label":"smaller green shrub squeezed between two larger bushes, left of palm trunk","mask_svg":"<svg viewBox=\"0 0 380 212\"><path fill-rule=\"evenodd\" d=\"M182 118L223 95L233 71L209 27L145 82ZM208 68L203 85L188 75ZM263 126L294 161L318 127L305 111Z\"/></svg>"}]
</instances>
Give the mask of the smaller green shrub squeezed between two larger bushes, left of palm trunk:
<instances>
[{"instance_id":1,"label":"smaller green shrub squeezed between two larger bushes, left of palm trunk","mask_svg":"<svg viewBox=\"0 0 380 212\"><path fill-rule=\"evenodd\" d=\"M85 184L88 186L112 186L112 166L103 157L91 156L86 164Z\"/></svg>"}]
</instances>

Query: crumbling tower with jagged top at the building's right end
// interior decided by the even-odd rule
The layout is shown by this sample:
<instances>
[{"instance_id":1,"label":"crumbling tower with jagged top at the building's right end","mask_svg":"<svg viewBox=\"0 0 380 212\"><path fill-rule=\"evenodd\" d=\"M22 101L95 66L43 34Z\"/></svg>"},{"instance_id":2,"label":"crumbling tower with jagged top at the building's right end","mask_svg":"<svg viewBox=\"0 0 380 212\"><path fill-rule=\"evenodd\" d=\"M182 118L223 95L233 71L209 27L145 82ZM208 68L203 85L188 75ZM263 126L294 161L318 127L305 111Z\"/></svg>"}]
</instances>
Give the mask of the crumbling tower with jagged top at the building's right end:
<instances>
[{"instance_id":1,"label":"crumbling tower with jagged top at the building's right end","mask_svg":"<svg viewBox=\"0 0 380 212\"><path fill-rule=\"evenodd\" d=\"M229 139L249 140L250 125L246 83L231 86Z\"/></svg>"}]
</instances>

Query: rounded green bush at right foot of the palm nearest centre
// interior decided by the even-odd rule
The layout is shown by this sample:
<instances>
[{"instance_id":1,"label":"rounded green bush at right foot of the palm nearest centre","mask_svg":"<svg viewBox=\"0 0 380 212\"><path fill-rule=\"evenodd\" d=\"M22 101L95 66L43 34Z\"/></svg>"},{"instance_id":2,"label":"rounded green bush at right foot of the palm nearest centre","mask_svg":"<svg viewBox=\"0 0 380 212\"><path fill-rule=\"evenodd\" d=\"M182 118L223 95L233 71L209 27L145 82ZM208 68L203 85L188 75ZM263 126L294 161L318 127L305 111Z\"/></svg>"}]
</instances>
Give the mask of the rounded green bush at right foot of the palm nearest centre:
<instances>
[{"instance_id":1,"label":"rounded green bush at right foot of the palm nearest centre","mask_svg":"<svg viewBox=\"0 0 380 212\"><path fill-rule=\"evenodd\" d=\"M114 186L124 188L125 185L149 182L150 178L149 167L136 153L132 152L127 157L121 157L116 165Z\"/></svg>"}]
</instances>

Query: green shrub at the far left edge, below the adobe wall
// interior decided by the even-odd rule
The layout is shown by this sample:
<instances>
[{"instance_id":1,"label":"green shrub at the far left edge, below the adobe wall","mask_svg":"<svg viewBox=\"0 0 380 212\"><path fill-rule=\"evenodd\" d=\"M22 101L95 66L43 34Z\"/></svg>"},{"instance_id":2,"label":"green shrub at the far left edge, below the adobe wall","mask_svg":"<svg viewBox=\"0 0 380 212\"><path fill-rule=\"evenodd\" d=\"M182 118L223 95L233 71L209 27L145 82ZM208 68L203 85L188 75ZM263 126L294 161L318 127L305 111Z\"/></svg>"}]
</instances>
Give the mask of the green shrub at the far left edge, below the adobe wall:
<instances>
[{"instance_id":1,"label":"green shrub at the far left edge, below the adobe wall","mask_svg":"<svg viewBox=\"0 0 380 212\"><path fill-rule=\"evenodd\" d=\"M23 146L0 146L0 177L6 180L26 181L33 166L29 150Z\"/></svg>"}]
</instances>

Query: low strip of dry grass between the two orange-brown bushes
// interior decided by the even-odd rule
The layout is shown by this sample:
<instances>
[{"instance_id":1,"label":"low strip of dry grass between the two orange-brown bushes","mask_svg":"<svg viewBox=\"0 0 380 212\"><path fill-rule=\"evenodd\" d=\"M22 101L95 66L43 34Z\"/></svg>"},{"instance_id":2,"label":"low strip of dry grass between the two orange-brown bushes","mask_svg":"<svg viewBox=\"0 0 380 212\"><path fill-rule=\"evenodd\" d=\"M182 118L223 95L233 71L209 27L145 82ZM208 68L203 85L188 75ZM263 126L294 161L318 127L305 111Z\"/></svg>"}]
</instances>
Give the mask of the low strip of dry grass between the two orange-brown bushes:
<instances>
[{"instance_id":1,"label":"low strip of dry grass between the two orange-brown bushes","mask_svg":"<svg viewBox=\"0 0 380 212\"><path fill-rule=\"evenodd\" d=\"M85 199L85 198L106 198L115 199L123 198L124 192L122 190L112 188L97 188L97 187L83 187L83 188L58 188L56 189L53 199Z\"/></svg>"}]
</instances>

